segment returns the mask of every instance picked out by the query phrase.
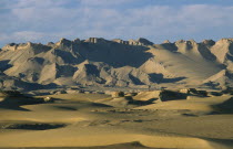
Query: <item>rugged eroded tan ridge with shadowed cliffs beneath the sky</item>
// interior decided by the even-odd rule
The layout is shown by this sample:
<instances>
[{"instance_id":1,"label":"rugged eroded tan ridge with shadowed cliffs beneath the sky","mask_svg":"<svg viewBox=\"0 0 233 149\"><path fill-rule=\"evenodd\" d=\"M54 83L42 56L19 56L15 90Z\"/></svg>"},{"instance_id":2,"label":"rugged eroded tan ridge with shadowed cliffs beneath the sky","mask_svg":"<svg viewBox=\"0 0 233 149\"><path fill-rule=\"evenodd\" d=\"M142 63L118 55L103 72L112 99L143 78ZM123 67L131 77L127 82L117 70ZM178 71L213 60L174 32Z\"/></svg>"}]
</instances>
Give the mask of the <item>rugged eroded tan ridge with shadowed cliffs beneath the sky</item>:
<instances>
[{"instance_id":1,"label":"rugged eroded tan ridge with shadowed cliffs beneath the sky","mask_svg":"<svg viewBox=\"0 0 233 149\"><path fill-rule=\"evenodd\" d=\"M225 85L231 84L231 78L220 72L231 74L233 70L232 42L232 39L216 43L180 40L153 44L142 38L129 41L89 38L61 39L45 45L11 43L0 51L0 71L1 76L12 82L40 86L197 86L206 81ZM219 74L224 79L214 79ZM10 86L1 82L1 87Z\"/></svg>"}]
</instances>

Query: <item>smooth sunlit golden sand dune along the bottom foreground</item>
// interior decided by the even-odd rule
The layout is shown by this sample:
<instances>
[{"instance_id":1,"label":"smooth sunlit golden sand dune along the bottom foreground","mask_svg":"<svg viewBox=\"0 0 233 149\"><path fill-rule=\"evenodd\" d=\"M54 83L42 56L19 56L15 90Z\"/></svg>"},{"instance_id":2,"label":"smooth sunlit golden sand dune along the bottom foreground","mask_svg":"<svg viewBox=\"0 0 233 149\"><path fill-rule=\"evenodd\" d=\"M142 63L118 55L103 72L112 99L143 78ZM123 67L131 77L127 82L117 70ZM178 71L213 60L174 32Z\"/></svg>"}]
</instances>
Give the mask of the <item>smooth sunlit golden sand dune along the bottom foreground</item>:
<instances>
[{"instance_id":1,"label":"smooth sunlit golden sand dune along the bottom foreground","mask_svg":"<svg viewBox=\"0 0 233 149\"><path fill-rule=\"evenodd\" d=\"M74 129L75 130L75 129ZM51 131L52 134L57 134ZM61 131L62 132L62 131ZM74 136L67 136L62 134L58 137L48 136L48 134L38 134L38 132L21 132L20 135L10 135L11 142L1 142L1 145L7 146L8 143L14 145L16 147L97 147L97 146L110 146L116 143L125 143L132 141L139 141L144 147L150 148L203 148L203 149L212 149L213 145L215 147L224 148L221 143L207 141L204 139L199 138L191 138L191 137L178 137L178 136L145 136L145 135L128 135L128 134L118 134L114 135L104 135L103 131L100 131L101 135L92 135L89 136L84 135L74 135ZM32 138L27 138L27 136L37 136ZM60 136L60 137L59 137ZM6 139L8 135L6 135ZM51 138L52 137L52 138ZM20 138L20 139L17 139ZM107 139L108 138L108 139ZM16 142L14 140L18 140ZM24 143L23 143L24 142Z\"/></svg>"}]
</instances>

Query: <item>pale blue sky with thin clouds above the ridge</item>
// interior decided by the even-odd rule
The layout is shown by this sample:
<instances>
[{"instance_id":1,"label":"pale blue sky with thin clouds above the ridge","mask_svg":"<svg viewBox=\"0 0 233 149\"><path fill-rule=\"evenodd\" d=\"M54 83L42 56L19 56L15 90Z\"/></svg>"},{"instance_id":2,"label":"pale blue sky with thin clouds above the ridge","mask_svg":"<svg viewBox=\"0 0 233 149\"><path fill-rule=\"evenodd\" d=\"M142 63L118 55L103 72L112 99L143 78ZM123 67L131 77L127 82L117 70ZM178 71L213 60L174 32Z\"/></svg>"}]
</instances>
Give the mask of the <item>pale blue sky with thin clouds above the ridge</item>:
<instances>
[{"instance_id":1,"label":"pale blue sky with thin clouds above the ridge","mask_svg":"<svg viewBox=\"0 0 233 149\"><path fill-rule=\"evenodd\" d=\"M90 36L233 38L233 0L0 0L0 46Z\"/></svg>"}]
</instances>

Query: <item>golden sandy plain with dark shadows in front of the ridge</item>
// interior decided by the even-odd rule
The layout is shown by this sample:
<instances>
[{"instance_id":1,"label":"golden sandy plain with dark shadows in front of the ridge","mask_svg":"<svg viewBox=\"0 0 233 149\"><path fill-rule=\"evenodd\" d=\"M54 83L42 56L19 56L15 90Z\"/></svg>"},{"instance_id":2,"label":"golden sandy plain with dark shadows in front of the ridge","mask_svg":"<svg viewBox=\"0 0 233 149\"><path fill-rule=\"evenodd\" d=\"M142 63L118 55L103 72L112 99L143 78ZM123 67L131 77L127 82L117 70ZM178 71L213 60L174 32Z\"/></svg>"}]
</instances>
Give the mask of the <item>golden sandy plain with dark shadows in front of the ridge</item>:
<instances>
[{"instance_id":1,"label":"golden sandy plain with dark shadows in front of the ridge","mask_svg":"<svg viewBox=\"0 0 233 149\"><path fill-rule=\"evenodd\" d=\"M105 94L0 103L2 149L231 149L232 95L144 104ZM6 100L2 97L1 100ZM10 100L10 99L8 99ZM7 104L6 104L7 103Z\"/></svg>"}]
</instances>

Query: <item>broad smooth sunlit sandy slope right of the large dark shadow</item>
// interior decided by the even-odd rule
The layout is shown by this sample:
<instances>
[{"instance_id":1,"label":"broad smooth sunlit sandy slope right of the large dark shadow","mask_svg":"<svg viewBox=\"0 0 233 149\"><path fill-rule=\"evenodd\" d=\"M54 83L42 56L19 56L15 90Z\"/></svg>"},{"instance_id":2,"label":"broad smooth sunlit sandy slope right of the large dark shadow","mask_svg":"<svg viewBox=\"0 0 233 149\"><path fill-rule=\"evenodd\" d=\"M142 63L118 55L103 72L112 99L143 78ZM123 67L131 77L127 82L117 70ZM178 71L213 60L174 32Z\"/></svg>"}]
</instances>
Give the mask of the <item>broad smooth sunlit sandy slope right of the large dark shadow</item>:
<instances>
[{"instance_id":1,"label":"broad smooth sunlit sandy slope right of the large dark shadow","mask_svg":"<svg viewBox=\"0 0 233 149\"><path fill-rule=\"evenodd\" d=\"M183 50L181 53L181 49L171 51L162 45L154 45L148 52L154 55L154 63L163 66L163 72L185 77L188 84L201 83L223 68L220 63L203 57L195 49Z\"/></svg>"}]
</instances>

